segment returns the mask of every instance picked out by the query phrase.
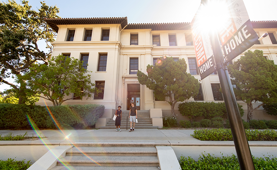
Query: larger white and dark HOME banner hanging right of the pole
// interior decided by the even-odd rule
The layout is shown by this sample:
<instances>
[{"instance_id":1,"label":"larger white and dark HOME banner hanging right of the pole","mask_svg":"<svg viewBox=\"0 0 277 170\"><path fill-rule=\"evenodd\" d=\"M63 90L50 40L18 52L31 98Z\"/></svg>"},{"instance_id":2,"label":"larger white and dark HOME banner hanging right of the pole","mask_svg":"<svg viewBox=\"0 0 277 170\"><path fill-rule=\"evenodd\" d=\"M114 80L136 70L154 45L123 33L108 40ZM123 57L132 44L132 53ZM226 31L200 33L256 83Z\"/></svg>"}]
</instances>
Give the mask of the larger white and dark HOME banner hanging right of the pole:
<instances>
[{"instance_id":1,"label":"larger white and dark HOME banner hanging right of the pole","mask_svg":"<svg viewBox=\"0 0 277 170\"><path fill-rule=\"evenodd\" d=\"M223 22L224 29L218 32L225 63L258 42L258 35L252 28L243 0L227 0L227 4L230 17Z\"/></svg>"}]
</instances>

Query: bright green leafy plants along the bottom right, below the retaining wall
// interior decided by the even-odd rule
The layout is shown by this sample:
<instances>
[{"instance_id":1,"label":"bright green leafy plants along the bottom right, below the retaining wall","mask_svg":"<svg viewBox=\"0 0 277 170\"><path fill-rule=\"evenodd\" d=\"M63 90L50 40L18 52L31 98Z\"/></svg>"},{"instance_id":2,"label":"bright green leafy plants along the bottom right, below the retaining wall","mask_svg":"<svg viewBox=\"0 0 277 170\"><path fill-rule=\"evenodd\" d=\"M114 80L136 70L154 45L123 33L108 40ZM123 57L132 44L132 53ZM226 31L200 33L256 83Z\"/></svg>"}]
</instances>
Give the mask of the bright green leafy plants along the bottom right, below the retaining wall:
<instances>
[{"instance_id":1,"label":"bright green leafy plants along the bottom right, below the retaining wall","mask_svg":"<svg viewBox=\"0 0 277 170\"><path fill-rule=\"evenodd\" d=\"M223 155L223 154L222 154ZM277 158L268 156L256 158L253 156L255 169L273 170L277 168ZM203 154L195 161L190 156L181 156L179 159L182 170L205 169L205 170L240 170L240 164L236 155L215 157L210 154Z\"/></svg>"}]
</instances>

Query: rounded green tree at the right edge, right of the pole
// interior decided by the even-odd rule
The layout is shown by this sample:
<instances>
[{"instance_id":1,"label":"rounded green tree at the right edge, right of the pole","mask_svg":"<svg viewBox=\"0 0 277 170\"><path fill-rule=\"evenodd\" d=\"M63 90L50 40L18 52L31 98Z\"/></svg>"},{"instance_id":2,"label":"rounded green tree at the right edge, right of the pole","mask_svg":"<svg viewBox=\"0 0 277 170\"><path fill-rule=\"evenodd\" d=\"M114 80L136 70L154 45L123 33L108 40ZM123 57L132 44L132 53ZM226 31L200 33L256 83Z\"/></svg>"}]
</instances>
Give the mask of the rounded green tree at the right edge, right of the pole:
<instances>
[{"instance_id":1,"label":"rounded green tree at the right edge, right of the pole","mask_svg":"<svg viewBox=\"0 0 277 170\"><path fill-rule=\"evenodd\" d=\"M234 64L228 66L236 98L247 103L247 122L252 120L253 110L263 104L277 101L277 65L263 57L263 52L255 50L245 53ZM252 102L262 102L253 108Z\"/></svg>"}]
</instances>

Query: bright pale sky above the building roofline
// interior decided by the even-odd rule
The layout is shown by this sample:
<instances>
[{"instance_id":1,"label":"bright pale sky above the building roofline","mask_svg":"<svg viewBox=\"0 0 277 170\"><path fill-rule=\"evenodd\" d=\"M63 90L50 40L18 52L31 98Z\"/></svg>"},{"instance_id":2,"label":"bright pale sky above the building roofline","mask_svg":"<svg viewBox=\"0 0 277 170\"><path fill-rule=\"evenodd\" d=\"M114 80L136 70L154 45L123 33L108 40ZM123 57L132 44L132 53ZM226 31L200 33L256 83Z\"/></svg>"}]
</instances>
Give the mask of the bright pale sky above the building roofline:
<instances>
[{"instance_id":1,"label":"bright pale sky above the building roofline","mask_svg":"<svg viewBox=\"0 0 277 170\"><path fill-rule=\"evenodd\" d=\"M20 3L20 0L15 1ZM127 17L128 23L191 22L201 2L201 0L44 1L48 6L58 6L58 15L61 18ZM277 0L243 0L243 2L251 21L277 20ZM41 6L39 0L29 0L28 4L35 10ZM10 86L6 84L0 85L0 91L8 88Z\"/></svg>"}]
</instances>

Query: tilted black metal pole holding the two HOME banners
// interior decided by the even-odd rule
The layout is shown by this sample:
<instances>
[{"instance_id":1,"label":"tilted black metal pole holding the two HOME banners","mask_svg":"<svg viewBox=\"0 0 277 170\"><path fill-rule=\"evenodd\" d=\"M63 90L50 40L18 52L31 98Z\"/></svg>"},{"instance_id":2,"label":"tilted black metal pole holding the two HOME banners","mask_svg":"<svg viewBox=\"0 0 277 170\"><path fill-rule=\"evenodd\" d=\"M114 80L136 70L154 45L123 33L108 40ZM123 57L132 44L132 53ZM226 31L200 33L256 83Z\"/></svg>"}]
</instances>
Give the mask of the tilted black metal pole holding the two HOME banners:
<instances>
[{"instance_id":1,"label":"tilted black metal pole holding the two HOME banners","mask_svg":"<svg viewBox=\"0 0 277 170\"><path fill-rule=\"evenodd\" d=\"M216 32L210 34L211 46L214 53L214 60L219 76L219 81L223 93L225 106L231 126L237 157L239 159L240 169L255 170L249 144L246 138L245 130L240 117L240 111L236 102L231 80L228 74L227 66L223 66L223 53L221 51L218 35Z\"/></svg>"}]
</instances>

